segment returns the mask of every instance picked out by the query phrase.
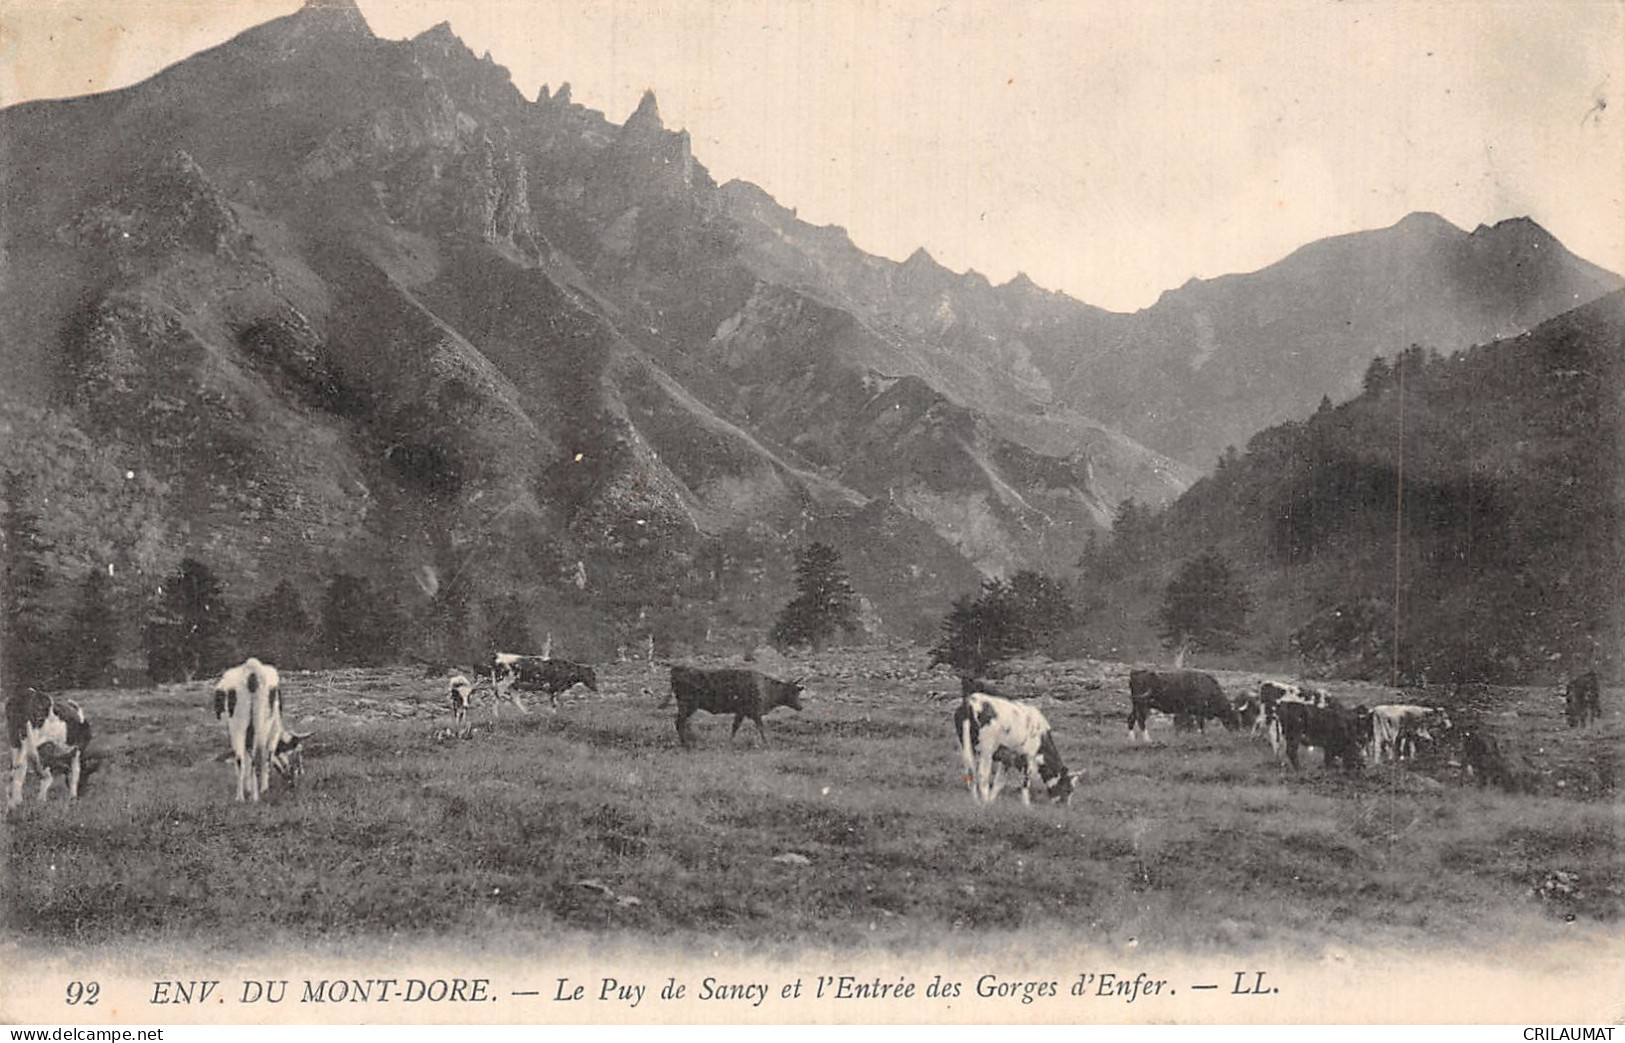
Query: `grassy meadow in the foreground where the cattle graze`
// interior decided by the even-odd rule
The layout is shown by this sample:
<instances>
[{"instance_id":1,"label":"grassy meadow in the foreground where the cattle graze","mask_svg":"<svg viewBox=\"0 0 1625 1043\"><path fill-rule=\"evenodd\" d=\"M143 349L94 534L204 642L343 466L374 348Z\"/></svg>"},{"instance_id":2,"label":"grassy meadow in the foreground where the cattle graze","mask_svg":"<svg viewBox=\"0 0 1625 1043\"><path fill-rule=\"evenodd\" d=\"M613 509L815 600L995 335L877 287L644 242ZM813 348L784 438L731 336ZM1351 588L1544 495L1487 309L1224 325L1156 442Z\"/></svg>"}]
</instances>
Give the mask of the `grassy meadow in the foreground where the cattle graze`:
<instances>
[{"instance_id":1,"label":"grassy meadow in the foreground where the cattle graze","mask_svg":"<svg viewBox=\"0 0 1625 1043\"><path fill-rule=\"evenodd\" d=\"M600 668L557 713L476 703L450 738L444 679L406 669L284 673L314 729L297 788L232 801L210 682L78 697L96 731L83 799L32 777L3 832L6 933L24 946L231 949L301 939L583 933L650 944L728 937L775 950L910 952L1051 934L1185 952L1331 944L1552 941L1625 913L1620 692L1570 731L1550 689L1407 694L1516 736L1534 793L1480 790L1451 742L1412 765L1294 773L1212 726L1128 739L1128 666L1024 663L1068 767L1066 807L962 781L957 682L905 648L808 671L806 712L699 715L681 749L663 671ZM1220 673L1227 692L1256 676ZM653 697L647 690L653 690ZM1349 702L1393 692L1332 686ZM1459 744L1459 739L1458 739Z\"/></svg>"}]
</instances>

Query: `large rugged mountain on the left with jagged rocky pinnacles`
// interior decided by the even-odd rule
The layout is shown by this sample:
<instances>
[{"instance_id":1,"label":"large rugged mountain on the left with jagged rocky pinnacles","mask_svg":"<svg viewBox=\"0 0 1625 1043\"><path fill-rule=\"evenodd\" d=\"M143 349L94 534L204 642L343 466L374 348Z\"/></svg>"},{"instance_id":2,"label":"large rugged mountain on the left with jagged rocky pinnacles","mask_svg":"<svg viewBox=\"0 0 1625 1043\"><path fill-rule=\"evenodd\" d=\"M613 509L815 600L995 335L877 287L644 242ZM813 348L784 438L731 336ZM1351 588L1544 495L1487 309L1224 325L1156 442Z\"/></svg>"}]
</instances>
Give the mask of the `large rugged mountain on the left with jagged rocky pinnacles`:
<instances>
[{"instance_id":1,"label":"large rugged mountain on the left with jagged rocky pinnacles","mask_svg":"<svg viewBox=\"0 0 1625 1043\"><path fill-rule=\"evenodd\" d=\"M621 127L526 101L447 26L380 41L310 3L3 110L0 140L11 466L63 577L109 567L135 619L193 554L239 603L358 572L447 651L510 595L600 655L754 642L822 536L928 634L978 570L1068 560L1113 496L931 387L910 408L956 435L894 452L879 338L739 262L653 96Z\"/></svg>"}]
</instances>

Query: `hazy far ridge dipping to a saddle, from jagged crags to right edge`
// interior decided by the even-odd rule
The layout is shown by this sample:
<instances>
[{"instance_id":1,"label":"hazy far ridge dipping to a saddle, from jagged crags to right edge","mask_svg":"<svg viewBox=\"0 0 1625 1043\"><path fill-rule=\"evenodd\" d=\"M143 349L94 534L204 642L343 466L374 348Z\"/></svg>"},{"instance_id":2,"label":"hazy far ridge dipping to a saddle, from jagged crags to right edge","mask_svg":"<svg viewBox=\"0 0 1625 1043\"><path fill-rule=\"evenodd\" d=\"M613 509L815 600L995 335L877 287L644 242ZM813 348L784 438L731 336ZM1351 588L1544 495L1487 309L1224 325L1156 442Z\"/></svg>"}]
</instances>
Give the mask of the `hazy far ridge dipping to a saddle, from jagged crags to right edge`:
<instances>
[{"instance_id":1,"label":"hazy far ridge dipping to a saddle, from jagged crags to right edge","mask_svg":"<svg viewBox=\"0 0 1625 1043\"><path fill-rule=\"evenodd\" d=\"M925 250L902 263L863 253L749 184L722 198L754 271L863 317L938 387L991 416L1038 411L1071 439L1113 431L1196 468L1323 395L1355 395L1376 356L1511 336L1625 284L1528 218L1464 232L1417 213L1261 271L1191 279L1124 315L1025 276L991 286Z\"/></svg>"}]
</instances>

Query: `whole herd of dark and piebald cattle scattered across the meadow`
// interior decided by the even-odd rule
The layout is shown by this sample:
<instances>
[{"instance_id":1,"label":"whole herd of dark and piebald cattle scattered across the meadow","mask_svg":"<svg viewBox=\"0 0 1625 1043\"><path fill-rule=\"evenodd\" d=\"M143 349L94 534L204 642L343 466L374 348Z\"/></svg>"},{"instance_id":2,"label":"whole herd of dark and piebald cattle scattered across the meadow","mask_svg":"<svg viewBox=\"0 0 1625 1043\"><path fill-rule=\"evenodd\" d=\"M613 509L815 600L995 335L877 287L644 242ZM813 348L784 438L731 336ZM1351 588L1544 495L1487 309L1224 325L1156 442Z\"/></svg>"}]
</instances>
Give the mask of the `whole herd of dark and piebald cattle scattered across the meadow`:
<instances>
[{"instance_id":1,"label":"whole herd of dark and piebald cattle scattered across the meadow","mask_svg":"<svg viewBox=\"0 0 1625 1043\"><path fill-rule=\"evenodd\" d=\"M492 690L492 716L497 716L505 699L525 712L522 692L546 694L556 710L559 695L575 686L598 690L598 677L592 666L569 660L497 653L489 673L478 681L465 674L450 677L458 736L473 734L468 715L474 692L484 686ZM1320 749L1326 768L1341 764L1344 770L1357 770L1367 762L1409 760L1420 744L1436 741L1453 726L1438 707L1344 707L1323 690L1284 681L1264 681L1256 692L1228 697L1211 674L1191 669L1134 669L1128 687L1131 739L1149 741L1152 710L1172 716L1176 729L1206 729L1209 720L1217 720L1230 731L1250 728L1253 736L1268 738L1276 755L1284 755L1294 768L1303 747ZM800 712L803 692L800 679L778 681L746 668L679 664L671 668L671 692L660 705L676 699L682 746L692 742L689 718L700 710L733 715L730 741L746 720L754 721L765 744L762 718L777 707ZM1599 720L1597 674L1591 671L1570 681L1563 700L1570 728ZM291 731L283 723L275 666L250 658L228 669L214 686L213 710L226 721L231 739L237 801L258 801L270 788L271 768L289 780L302 773L302 741L309 733ZM1502 741L1484 729L1464 731L1462 765L1477 783L1519 788L1511 754ZM89 721L78 703L32 689L16 694L6 700L6 734L11 749L8 809L23 801L29 768L41 777L41 801L50 791L54 768L67 772L68 796L78 796L83 754L91 741ZM965 676L954 710L954 736L965 767L964 780L978 803L994 801L1011 772L1022 773L1022 803L1030 803L1034 773L1051 801L1071 799L1077 775L1066 770L1050 723L1037 707L1006 697L988 681Z\"/></svg>"}]
</instances>

